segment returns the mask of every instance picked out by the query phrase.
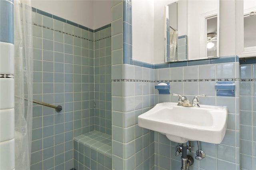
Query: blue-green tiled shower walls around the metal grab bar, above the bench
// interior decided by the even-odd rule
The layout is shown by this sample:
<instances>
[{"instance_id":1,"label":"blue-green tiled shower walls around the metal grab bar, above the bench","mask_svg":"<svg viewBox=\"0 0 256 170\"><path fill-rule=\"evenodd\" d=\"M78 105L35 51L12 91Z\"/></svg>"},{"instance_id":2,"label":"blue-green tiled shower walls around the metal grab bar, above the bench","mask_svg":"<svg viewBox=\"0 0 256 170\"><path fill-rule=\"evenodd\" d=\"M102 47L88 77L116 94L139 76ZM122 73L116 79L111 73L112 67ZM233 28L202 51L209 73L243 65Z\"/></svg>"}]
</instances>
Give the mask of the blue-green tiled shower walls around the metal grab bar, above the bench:
<instances>
[{"instance_id":1,"label":"blue-green tiled shower walls around the metal grab bar, above the bench","mask_svg":"<svg viewBox=\"0 0 256 170\"><path fill-rule=\"evenodd\" d=\"M33 97L63 110L34 105L31 169L70 170L75 136L95 129L111 134L110 30L33 8Z\"/></svg>"}]
</instances>

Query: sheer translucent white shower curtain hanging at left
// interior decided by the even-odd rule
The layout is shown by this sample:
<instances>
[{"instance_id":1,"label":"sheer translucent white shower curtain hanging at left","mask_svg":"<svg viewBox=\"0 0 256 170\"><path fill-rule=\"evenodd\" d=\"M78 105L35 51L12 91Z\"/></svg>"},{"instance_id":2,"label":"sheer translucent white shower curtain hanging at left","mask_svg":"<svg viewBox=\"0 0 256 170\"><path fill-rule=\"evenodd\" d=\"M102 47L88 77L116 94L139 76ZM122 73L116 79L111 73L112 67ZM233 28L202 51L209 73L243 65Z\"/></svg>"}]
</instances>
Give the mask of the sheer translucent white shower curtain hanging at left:
<instances>
[{"instance_id":1,"label":"sheer translucent white shower curtain hanging at left","mask_svg":"<svg viewBox=\"0 0 256 170\"><path fill-rule=\"evenodd\" d=\"M14 0L15 170L30 169L33 106L31 12L30 0L22 3Z\"/></svg>"}]
</instances>

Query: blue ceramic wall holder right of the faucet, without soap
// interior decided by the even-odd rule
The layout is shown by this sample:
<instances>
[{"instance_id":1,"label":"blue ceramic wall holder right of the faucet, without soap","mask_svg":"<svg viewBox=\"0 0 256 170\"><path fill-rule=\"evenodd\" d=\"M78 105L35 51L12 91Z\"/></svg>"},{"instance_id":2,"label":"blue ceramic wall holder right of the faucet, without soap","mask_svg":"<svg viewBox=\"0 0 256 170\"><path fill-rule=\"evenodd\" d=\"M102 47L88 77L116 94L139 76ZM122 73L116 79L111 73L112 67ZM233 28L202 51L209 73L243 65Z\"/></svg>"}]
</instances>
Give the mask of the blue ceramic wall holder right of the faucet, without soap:
<instances>
[{"instance_id":1,"label":"blue ceramic wall holder right of the faucet, without soap","mask_svg":"<svg viewBox=\"0 0 256 170\"><path fill-rule=\"evenodd\" d=\"M235 81L217 81L215 90L217 96L235 97Z\"/></svg>"}]
</instances>

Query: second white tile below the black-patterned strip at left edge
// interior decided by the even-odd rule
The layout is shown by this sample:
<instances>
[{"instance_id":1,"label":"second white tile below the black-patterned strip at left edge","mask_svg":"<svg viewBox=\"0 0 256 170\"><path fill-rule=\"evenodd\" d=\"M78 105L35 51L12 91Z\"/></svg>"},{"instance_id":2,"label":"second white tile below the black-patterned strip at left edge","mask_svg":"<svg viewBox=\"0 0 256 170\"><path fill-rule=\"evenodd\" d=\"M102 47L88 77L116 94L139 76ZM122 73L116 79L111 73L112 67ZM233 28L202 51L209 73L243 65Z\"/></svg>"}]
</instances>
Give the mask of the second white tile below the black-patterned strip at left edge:
<instances>
[{"instance_id":1,"label":"second white tile below the black-patterned strip at left edge","mask_svg":"<svg viewBox=\"0 0 256 170\"><path fill-rule=\"evenodd\" d=\"M14 109L0 110L0 142L14 138Z\"/></svg>"}]
</instances>

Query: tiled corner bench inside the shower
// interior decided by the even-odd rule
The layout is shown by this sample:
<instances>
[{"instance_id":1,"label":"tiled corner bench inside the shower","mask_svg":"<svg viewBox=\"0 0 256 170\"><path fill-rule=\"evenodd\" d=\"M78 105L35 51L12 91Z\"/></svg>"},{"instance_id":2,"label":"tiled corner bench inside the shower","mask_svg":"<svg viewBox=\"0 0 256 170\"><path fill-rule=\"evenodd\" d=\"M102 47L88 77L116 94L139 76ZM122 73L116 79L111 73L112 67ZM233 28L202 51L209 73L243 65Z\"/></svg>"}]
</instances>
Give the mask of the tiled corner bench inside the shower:
<instances>
[{"instance_id":1,"label":"tiled corner bench inside the shower","mask_svg":"<svg viewBox=\"0 0 256 170\"><path fill-rule=\"evenodd\" d=\"M94 130L74 137L74 168L111 170L112 136Z\"/></svg>"}]
</instances>

